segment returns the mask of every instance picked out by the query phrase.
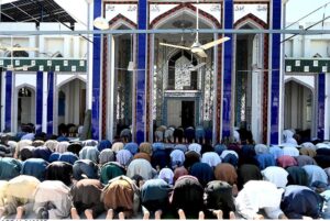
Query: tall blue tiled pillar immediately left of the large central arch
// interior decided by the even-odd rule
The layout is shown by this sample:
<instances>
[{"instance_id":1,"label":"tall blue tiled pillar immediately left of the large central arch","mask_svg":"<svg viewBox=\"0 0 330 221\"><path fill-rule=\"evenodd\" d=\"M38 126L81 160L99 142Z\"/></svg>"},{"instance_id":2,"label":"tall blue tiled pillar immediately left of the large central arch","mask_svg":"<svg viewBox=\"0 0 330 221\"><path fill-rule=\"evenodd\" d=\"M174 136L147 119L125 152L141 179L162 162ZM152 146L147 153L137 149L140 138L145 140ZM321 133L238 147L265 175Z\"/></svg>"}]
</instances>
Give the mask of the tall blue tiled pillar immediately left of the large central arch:
<instances>
[{"instance_id":1,"label":"tall blue tiled pillar immediately left of the large central arch","mask_svg":"<svg viewBox=\"0 0 330 221\"><path fill-rule=\"evenodd\" d=\"M138 9L138 29L147 29L147 0L139 0ZM138 71L136 71L136 143L145 141L145 67L146 67L146 34L138 34Z\"/></svg>"}]
</instances>

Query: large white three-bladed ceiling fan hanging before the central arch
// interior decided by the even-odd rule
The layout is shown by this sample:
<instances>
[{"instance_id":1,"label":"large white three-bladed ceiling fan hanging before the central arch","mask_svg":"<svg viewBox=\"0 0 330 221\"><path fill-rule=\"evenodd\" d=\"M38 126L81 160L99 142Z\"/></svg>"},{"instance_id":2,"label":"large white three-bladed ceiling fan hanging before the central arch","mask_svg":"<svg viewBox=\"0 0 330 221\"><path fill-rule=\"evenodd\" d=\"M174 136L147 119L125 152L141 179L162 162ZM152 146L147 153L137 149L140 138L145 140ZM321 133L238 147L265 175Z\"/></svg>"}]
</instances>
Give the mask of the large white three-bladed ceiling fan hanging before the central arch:
<instances>
[{"instance_id":1,"label":"large white three-bladed ceiling fan hanging before the central arch","mask_svg":"<svg viewBox=\"0 0 330 221\"><path fill-rule=\"evenodd\" d=\"M199 0L197 0L197 4L199 3ZM174 44L167 44L167 43L160 43L162 46L167 46L167 47L175 47L175 48L180 48L180 49L187 49L190 51L191 53L197 54L199 57L207 57L208 55L206 54L206 49L211 48L218 44L221 44L223 42L227 42L230 40L230 37L222 37L219 40L216 40L213 42L209 42L207 44L200 44L199 43L199 37L198 37L198 30L199 30L199 21L198 21L198 13L199 9L198 5L196 7L196 38L195 42L190 47L184 46L184 45L174 45Z\"/></svg>"}]
</instances>

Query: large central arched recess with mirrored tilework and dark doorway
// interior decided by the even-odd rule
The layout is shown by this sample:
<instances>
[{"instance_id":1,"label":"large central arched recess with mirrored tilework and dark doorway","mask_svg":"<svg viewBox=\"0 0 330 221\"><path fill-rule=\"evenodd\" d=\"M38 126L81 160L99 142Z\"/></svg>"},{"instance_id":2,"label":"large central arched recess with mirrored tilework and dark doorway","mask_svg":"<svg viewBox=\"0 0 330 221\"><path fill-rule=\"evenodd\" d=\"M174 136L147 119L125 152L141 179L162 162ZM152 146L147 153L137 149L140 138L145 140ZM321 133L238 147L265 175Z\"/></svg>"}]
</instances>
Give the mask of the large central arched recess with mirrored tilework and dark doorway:
<instances>
[{"instance_id":1,"label":"large central arched recess with mirrored tilework and dark doorway","mask_svg":"<svg viewBox=\"0 0 330 221\"><path fill-rule=\"evenodd\" d=\"M196 13L190 8L183 7L174 13L156 22L153 29L194 29ZM216 24L199 14L200 29L216 29ZM186 49L161 46L160 43L174 45L193 45L196 35L154 34L154 52L151 56L153 65L152 120L154 128L160 125L197 126L212 129L217 75L220 68L217 48L206 51L201 57ZM199 42L206 44L219 38L217 34L199 33Z\"/></svg>"}]
</instances>

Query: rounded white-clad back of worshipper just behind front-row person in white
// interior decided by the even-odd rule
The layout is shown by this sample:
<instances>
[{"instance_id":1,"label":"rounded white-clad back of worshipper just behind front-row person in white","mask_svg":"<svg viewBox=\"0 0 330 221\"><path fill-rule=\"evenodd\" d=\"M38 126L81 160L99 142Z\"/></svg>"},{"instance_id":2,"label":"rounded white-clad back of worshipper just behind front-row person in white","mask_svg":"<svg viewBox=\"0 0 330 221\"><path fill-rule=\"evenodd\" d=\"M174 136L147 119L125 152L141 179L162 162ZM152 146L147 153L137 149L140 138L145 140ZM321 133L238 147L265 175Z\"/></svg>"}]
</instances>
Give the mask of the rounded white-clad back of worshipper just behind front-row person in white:
<instances>
[{"instance_id":1,"label":"rounded white-clad back of worshipper just behind front-row person in white","mask_svg":"<svg viewBox=\"0 0 330 221\"><path fill-rule=\"evenodd\" d=\"M277 188L285 188L287 185L288 173L282 167L268 166L261 173L264 177L264 180L273 183Z\"/></svg>"}]
</instances>

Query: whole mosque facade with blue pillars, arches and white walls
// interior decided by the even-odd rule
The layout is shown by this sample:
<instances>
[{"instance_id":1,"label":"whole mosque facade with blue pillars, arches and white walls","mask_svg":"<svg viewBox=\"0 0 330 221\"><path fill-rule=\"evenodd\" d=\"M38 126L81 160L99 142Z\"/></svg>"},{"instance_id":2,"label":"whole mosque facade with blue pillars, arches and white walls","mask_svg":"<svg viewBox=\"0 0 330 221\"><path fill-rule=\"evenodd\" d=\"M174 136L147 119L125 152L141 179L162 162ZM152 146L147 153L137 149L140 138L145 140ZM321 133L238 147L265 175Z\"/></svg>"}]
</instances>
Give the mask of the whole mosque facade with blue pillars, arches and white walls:
<instances>
[{"instance_id":1,"label":"whole mosque facade with blue pillars, arches and white walls","mask_svg":"<svg viewBox=\"0 0 330 221\"><path fill-rule=\"evenodd\" d=\"M278 144L282 131L292 128L329 139L327 52L322 58L301 58L293 49L295 41L257 32L283 29L280 0L95 0L91 5L92 18L106 18L110 30L198 25L215 32L94 34L90 59L86 41L76 36L20 40L38 42L53 55L52 45L61 45L62 57L35 59L29 53L2 59L3 67L26 66L2 71L1 131L16 132L30 120L40 131L58 133L62 123L81 125L85 110L91 109L96 140L112 140L131 126L134 141L152 142L160 125L201 125L213 143L232 136L235 128L251 131L256 143ZM204 45L224 36L230 40L206 49L204 57L161 45L190 46L196 37Z\"/></svg>"}]
</instances>

